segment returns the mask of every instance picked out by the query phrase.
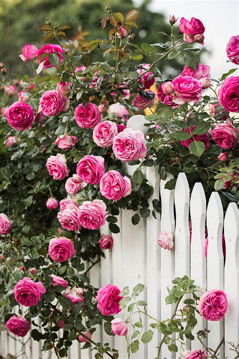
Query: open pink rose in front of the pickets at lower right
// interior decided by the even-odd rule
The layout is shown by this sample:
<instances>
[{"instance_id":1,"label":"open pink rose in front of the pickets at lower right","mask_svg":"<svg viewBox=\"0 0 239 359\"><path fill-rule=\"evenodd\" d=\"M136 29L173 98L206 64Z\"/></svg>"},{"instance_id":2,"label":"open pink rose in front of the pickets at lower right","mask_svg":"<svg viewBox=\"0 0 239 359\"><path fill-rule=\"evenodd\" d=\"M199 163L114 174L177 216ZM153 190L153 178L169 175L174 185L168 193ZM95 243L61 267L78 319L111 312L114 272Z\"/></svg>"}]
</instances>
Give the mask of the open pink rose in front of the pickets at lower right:
<instances>
[{"instance_id":1,"label":"open pink rose in front of the pickets at lower right","mask_svg":"<svg viewBox=\"0 0 239 359\"><path fill-rule=\"evenodd\" d=\"M224 317L226 310L227 297L222 290L209 290L200 297L199 312L204 319L219 321Z\"/></svg>"}]
</instances>

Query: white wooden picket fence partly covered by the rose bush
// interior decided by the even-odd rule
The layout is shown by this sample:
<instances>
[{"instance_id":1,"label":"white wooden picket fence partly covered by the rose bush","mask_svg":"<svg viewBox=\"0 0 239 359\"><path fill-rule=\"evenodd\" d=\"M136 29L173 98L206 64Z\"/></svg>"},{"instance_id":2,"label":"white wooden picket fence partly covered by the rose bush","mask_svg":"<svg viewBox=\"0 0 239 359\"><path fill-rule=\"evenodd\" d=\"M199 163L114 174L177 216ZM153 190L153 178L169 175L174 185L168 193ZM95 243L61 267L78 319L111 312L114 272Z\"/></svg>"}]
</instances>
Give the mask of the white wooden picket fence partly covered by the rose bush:
<instances>
[{"instance_id":1,"label":"white wooden picket fence partly covered by the rose bush","mask_svg":"<svg viewBox=\"0 0 239 359\"><path fill-rule=\"evenodd\" d=\"M128 167L129 174L135 170ZM234 358L227 342L239 342L239 228L238 210L235 203L230 203L225 218L219 194L213 192L208 204L201 183L195 183L190 194L187 177L181 173L176 181L175 190L164 189L165 183L171 175L160 180L157 169L147 168L146 178L154 187L152 199L161 201L161 218L150 216L141 219L137 226L131 222L134 212L121 210L118 216L118 225L121 232L113 234L113 247L105 250L105 259L101 265L97 264L90 270L91 284L95 287L106 284L117 285L120 289L129 286L130 289L138 284L146 285L143 299L148 303L148 314L164 320L170 317L173 310L171 305L165 305L167 286L171 286L174 277L188 275L195 279L195 283L203 290L222 289L228 298L228 310L224 320L220 322L206 322L198 316L198 324L194 334L200 329L207 328L207 345L216 348L225 336L225 346L220 350L220 359ZM152 203L150 204L152 209ZM175 211L174 211L175 208ZM175 218L174 218L175 214ZM192 242L190 243L189 215L192 221ZM208 230L208 253L204 254L205 224ZM224 230L223 230L224 226ZM157 244L160 231L168 230L175 233L175 246L172 250L161 249ZM222 231L225 235L226 259L222 252ZM101 232L109 234L108 225L101 227ZM120 313L118 316L121 317ZM146 328L145 328L146 329ZM4 346L2 353L16 354L21 352L21 343L14 340L7 333L2 332ZM109 343L120 352L120 359L127 359L126 340L123 337L106 335L102 328L98 328L92 339ZM40 351L40 345L32 339L23 339L27 342L26 354L18 355L20 359L55 358L51 351ZM141 344L134 359L154 359L157 345L160 342L160 333L155 333L150 343ZM189 348L196 350L202 347L198 340L188 341ZM3 347L5 352L3 352ZM107 355L105 356L107 357ZM180 350L171 353L166 346L162 348L162 358L178 359ZM94 352L90 349L80 350L80 344L74 343L70 349L69 359L93 359Z\"/></svg>"}]
</instances>

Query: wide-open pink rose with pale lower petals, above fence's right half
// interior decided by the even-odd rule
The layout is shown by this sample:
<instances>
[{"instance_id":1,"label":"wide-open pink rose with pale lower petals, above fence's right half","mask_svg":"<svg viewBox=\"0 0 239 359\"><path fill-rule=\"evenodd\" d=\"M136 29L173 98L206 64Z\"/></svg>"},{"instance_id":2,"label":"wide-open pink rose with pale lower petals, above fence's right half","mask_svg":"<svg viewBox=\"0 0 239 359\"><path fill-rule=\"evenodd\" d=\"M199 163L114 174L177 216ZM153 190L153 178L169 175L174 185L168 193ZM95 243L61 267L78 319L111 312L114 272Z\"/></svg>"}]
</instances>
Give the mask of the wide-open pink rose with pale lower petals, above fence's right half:
<instances>
[{"instance_id":1,"label":"wide-open pink rose with pale lower petals, above fence's right half","mask_svg":"<svg viewBox=\"0 0 239 359\"><path fill-rule=\"evenodd\" d=\"M192 76L177 76L172 80L173 101L178 105L198 102L202 98L203 85Z\"/></svg>"}]
</instances>

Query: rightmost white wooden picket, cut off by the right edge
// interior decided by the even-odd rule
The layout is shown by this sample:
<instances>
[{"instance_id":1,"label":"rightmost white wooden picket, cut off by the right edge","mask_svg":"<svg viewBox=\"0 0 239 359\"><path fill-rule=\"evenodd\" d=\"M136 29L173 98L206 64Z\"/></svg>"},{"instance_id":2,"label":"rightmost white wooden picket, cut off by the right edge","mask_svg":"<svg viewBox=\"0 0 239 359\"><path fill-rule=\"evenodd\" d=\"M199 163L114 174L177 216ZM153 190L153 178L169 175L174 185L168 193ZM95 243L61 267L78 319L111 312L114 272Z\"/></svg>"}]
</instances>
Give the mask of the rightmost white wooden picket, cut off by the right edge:
<instances>
[{"instance_id":1,"label":"rightmost white wooden picket, cut off by the right edge","mask_svg":"<svg viewBox=\"0 0 239 359\"><path fill-rule=\"evenodd\" d=\"M239 343L239 219L235 203L230 203L224 221L226 243L225 284L228 309L225 314L225 357L232 351L228 342Z\"/></svg>"}]
</instances>

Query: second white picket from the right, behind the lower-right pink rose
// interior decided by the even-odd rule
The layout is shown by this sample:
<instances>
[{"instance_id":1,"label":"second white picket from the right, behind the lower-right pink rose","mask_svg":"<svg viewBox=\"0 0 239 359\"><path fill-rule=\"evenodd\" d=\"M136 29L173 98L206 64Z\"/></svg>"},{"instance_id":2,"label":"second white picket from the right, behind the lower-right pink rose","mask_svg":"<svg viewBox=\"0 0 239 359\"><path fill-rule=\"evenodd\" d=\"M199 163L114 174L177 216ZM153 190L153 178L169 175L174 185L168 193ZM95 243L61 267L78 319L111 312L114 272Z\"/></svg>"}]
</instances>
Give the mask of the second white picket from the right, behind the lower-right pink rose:
<instances>
[{"instance_id":1,"label":"second white picket from the right, behind the lower-right pink rose","mask_svg":"<svg viewBox=\"0 0 239 359\"><path fill-rule=\"evenodd\" d=\"M207 289L224 289L224 260L222 252L223 209L219 194L213 192L207 208ZM223 320L208 321L208 347L216 348L224 335ZM224 358L224 347L221 346L219 358Z\"/></svg>"}]
</instances>

